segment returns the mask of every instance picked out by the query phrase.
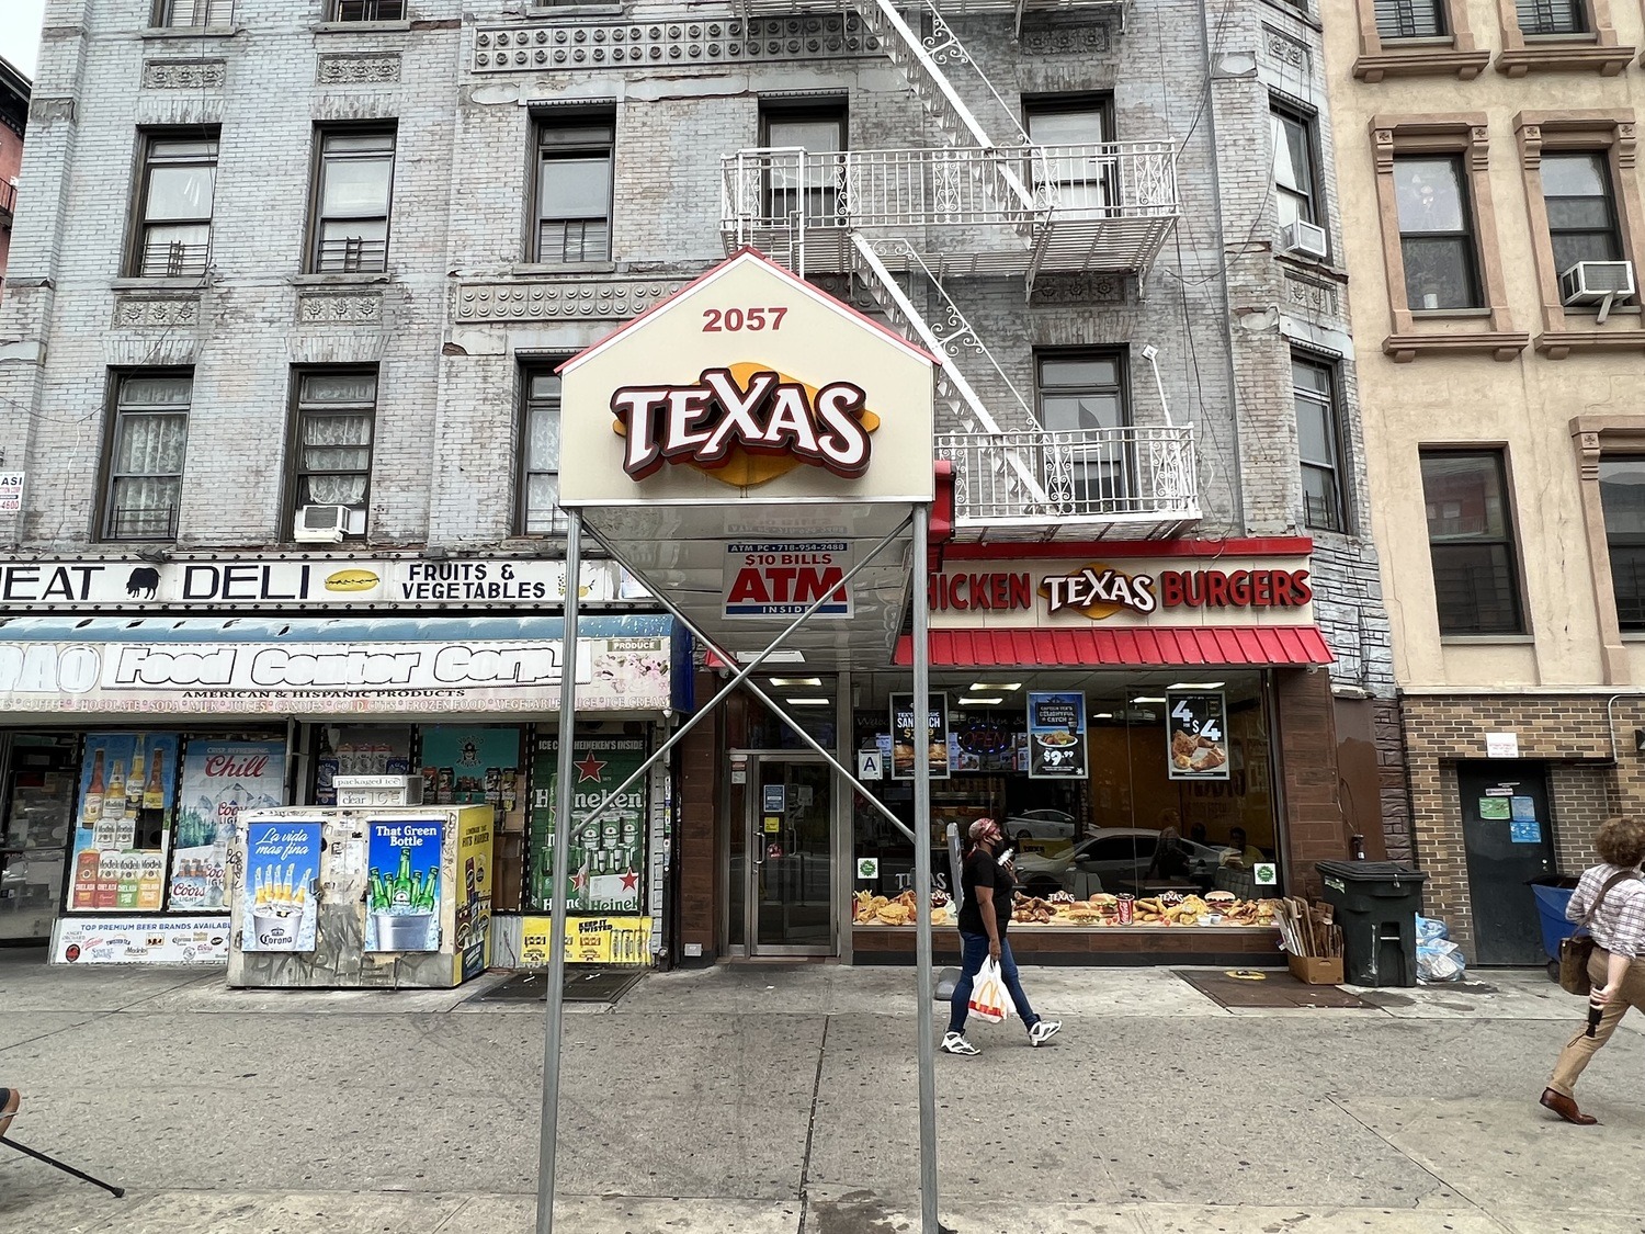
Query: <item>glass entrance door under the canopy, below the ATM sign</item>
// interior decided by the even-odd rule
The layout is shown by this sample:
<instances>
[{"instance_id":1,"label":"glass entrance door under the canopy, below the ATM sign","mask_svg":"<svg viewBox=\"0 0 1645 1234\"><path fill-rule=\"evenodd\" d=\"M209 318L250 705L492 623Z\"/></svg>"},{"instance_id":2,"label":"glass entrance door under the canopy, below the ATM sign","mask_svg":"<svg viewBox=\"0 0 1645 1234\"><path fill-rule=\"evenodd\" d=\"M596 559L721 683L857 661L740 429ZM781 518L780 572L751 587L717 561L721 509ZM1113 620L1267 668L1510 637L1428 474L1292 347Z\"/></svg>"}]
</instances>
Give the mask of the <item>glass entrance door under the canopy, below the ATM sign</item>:
<instances>
[{"instance_id":1,"label":"glass entrance door under the canopy, below the ATM sign","mask_svg":"<svg viewBox=\"0 0 1645 1234\"><path fill-rule=\"evenodd\" d=\"M748 954L834 954L832 772L821 758L752 757L745 800Z\"/></svg>"}]
</instances>

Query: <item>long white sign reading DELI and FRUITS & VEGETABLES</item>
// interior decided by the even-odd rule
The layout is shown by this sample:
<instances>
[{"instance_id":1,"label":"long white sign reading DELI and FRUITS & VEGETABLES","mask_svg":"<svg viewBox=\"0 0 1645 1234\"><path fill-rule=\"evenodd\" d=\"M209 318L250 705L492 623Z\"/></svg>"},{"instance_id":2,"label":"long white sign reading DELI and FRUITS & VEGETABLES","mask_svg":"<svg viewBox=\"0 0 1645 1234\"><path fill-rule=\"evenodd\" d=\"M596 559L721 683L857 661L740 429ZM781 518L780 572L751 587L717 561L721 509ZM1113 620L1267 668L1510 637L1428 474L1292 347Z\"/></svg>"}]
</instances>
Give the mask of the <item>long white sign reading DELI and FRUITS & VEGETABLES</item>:
<instances>
[{"instance_id":1,"label":"long white sign reading DELI and FRUITS & VEGETABLES","mask_svg":"<svg viewBox=\"0 0 1645 1234\"><path fill-rule=\"evenodd\" d=\"M607 561L579 571L584 601L643 599ZM201 558L150 564L138 558L0 561L0 607L63 609L280 609L395 607L535 610L566 599L566 564L472 558Z\"/></svg>"}]
</instances>

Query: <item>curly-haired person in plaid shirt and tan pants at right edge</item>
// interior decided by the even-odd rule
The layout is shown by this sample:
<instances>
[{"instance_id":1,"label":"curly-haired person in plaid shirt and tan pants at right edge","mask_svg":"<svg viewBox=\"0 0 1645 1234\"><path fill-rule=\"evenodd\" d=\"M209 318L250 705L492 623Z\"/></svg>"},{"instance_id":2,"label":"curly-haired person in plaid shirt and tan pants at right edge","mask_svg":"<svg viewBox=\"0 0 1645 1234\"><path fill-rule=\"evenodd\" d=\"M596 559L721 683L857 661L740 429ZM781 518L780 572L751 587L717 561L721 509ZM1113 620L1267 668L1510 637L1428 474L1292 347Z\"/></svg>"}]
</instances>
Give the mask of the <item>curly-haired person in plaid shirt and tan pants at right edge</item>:
<instances>
[{"instance_id":1,"label":"curly-haired person in plaid shirt and tan pants at right edge","mask_svg":"<svg viewBox=\"0 0 1645 1234\"><path fill-rule=\"evenodd\" d=\"M1594 936L1594 954L1587 963L1594 992L1589 997L1604 1007L1604 1014L1592 1037L1584 1023L1566 1041L1541 1096L1543 1106L1579 1127L1591 1127L1599 1119L1578 1109L1573 1094L1578 1076L1594 1051L1610 1040L1629 1007L1645 1007L1645 964L1635 964L1645 953L1645 875L1640 872L1640 862L1645 861L1645 821L1607 819L1594 836L1594 847L1599 849L1602 864L1582 872L1564 915L1571 921L1586 920L1587 931Z\"/></svg>"}]
</instances>

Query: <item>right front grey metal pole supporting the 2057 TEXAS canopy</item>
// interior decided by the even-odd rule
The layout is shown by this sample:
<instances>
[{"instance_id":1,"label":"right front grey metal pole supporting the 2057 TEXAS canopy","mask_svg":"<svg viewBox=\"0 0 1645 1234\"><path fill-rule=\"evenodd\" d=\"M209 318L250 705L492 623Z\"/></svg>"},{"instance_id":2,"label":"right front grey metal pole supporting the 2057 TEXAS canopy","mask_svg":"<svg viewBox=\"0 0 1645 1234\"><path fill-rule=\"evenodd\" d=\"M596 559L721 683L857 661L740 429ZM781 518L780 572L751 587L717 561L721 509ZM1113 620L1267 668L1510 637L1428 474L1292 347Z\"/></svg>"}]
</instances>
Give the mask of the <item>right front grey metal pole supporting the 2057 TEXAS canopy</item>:
<instances>
[{"instance_id":1,"label":"right front grey metal pole supporting the 2057 TEXAS canopy","mask_svg":"<svg viewBox=\"0 0 1645 1234\"><path fill-rule=\"evenodd\" d=\"M931 507L915 507L913 638L915 638L915 956L918 999L915 1023L920 1033L920 1231L939 1234L936 1219L936 1041L931 1002L931 640L926 633L926 536Z\"/></svg>"}]
</instances>

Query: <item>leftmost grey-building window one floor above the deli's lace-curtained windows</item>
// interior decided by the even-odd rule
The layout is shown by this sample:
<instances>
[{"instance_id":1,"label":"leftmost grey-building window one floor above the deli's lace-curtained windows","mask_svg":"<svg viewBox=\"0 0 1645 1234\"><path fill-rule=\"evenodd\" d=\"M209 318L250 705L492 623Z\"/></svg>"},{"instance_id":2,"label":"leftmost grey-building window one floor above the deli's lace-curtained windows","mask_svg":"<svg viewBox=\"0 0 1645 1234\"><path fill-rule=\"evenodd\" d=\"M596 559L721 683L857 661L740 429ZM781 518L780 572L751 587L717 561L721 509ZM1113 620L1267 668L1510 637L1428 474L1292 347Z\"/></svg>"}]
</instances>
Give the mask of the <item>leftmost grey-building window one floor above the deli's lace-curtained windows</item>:
<instances>
[{"instance_id":1,"label":"leftmost grey-building window one floor above the deli's lace-curtained windows","mask_svg":"<svg viewBox=\"0 0 1645 1234\"><path fill-rule=\"evenodd\" d=\"M215 135L151 135L145 140L133 275L206 276L215 188Z\"/></svg>"}]
</instances>

